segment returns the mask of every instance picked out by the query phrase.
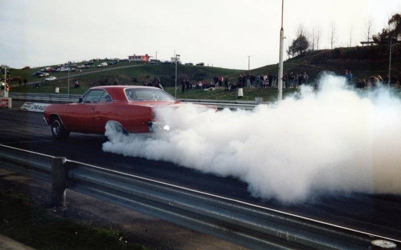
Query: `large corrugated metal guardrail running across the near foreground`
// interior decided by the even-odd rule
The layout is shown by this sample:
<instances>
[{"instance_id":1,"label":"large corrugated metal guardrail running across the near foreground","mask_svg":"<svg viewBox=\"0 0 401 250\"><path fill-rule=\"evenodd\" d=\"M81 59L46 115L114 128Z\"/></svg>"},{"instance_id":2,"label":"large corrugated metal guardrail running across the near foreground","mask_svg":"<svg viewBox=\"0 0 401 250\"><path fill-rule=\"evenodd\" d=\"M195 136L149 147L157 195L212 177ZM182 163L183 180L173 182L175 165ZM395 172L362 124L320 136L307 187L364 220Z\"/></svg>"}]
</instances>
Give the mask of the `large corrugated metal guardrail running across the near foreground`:
<instances>
[{"instance_id":1,"label":"large corrugated metal guardrail running across the near foreground","mask_svg":"<svg viewBox=\"0 0 401 250\"><path fill-rule=\"evenodd\" d=\"M0 144L0 167L52 183L52 203L66 188L252 249L368 248L384 238L165 182Z\"/></svg>"}]
</instances>

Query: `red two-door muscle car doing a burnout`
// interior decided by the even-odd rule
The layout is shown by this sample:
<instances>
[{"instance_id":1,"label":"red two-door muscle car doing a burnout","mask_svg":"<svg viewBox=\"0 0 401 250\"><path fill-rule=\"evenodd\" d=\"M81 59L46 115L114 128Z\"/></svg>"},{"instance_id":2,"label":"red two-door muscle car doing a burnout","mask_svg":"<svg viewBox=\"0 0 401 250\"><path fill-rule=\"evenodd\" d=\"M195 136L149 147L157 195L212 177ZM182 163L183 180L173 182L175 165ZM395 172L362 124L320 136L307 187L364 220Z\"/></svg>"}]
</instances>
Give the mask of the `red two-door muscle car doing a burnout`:
<instances>
[{"instance_id":1,"label":"red two-door muscle car doing a burnout","mask_svg":"<svg viewBox=\"0 0 401 250\"><path fill-rule=\"evenodd\" d=\"M56 139L65 139L70 132L104 133L107 122L125 133L147 133L153 129L153 108L178 105L183 104L157 87L98 86L76 103L47 106L44 119Z\"/></svg>"}]
</instances>

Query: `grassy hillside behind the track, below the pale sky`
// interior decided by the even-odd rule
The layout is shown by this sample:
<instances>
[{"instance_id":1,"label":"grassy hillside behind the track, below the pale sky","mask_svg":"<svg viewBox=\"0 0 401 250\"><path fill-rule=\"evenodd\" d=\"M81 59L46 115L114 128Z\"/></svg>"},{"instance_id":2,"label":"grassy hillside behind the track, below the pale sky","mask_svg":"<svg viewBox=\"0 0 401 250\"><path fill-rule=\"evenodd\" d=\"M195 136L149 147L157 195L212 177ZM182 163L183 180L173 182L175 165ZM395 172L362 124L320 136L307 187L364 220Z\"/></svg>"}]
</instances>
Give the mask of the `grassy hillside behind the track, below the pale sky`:
<instances>
[{"instance_id":1,"label":"grassy hillside behind the track, below the pale sky","mask_svg":"<svg viewBox=\"0 0 401 250\"><path fill-rule=\"evenodd\" d=\"M392 75L397 77L401 74L401 45L394 45L392 51ZM99 64L102 60L96 61ZM79 64L79 63L78 63ZM358 78L368 78L371 75L381 75L382 77L388 72L388 51L387 46L357 46L344 47L335 49L322 49L308 51L303 55L290 58L284 62L285 72L308 72L310 76L309 82L314 82L323 71L332 71L338 75L343 75L344 70L349 69L353 73L353 80ZM18 75L27 77L32 82L38 80L38 77L32 76L32 73L40 70L40 68L11 69L13 76ZM277 73L278 64L266 65L260 68L250 70L253 73ZM185 78L192 81L211 80L215 75L223 74L226 78L230 78L231 82L236 82L238 74L247 72L245 70L235 70L220 67L195 66L195 65L177 65L177 84ZM60 87L61 93L67 93L67 73L52 72L50 75L56 76L57 81L42 83L41 88L18 87L18 83L14 83L12 91L17 92L49 92L52 93L55 87ZM81 88L72 89L70 93L81 94L87 88L96 85L106 84L135 84L142 85L143 82L151 81L154 77L159 77L161 83L166 90L174 93L175 65L174 64L144 64L140 62L121 61L116 65L109 65L104 68L83 69L82 72L70 73L70 87L75 79L78 79ZM16 86L17 85L17 86ZM205 99L235 99L234 92L215 90L191 90L181 94L180 89L177 90L179 98L205 98ZM284 95L291 94L294 89L284 91ZM244 99L253 100L254 97L264 97L265 100L274 100L276 98L277 89L246 89Z\"/></svg>"}]
</instances>

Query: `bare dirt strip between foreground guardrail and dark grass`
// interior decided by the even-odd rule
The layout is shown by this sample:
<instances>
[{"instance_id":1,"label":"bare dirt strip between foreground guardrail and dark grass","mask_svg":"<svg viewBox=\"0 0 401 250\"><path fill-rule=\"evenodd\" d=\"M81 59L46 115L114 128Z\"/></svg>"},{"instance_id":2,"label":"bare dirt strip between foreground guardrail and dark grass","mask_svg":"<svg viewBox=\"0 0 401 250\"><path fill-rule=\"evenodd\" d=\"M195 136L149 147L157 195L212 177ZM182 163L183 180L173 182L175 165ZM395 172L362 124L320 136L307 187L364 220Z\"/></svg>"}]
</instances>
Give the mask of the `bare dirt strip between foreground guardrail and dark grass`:
<instances>
[{"instance_id":1,"label":"bare dirt strip between foreground guardrail and dark grass","mask_svg":"<svg viewBox=\"0 0 401 250\"><path fill-rule=\"evenodd\" d=\"M126 240L154 249L244 249L219 238L174 225L127 208L67 190L67 206L50 206L50 183L0 168L0 189L24 193L34 207L57 217L121 230Z\"/></svg>"}]
</instances>

